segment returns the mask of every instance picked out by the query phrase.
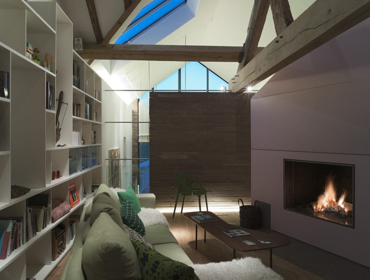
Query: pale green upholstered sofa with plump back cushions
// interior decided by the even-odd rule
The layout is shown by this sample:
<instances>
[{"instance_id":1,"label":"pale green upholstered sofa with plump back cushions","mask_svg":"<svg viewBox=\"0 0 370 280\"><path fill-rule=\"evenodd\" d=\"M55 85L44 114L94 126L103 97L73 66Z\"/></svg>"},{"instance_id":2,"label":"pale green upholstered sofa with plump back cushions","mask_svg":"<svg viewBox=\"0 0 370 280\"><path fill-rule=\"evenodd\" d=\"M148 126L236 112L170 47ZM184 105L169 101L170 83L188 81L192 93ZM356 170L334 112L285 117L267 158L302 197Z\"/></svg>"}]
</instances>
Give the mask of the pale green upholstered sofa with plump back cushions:
<instances>
[{"instance_id":1,"label":"pale green upholstered sofa with plump back cushions","mask_svg":"<svg viewBox=\"0 0 370 280\"><path fill-rule=\"evenodd\" d=\"M155 208L154 194L137 196L141 207ZM120 213L117 195L101 184L93 202L83 209L61 280L116 279L117 275L117 279L140 279L135 249L120 216L118 217ZM144 239L154 245L159 253L173 260L192 264L165 225L146 226ZM108 277L107 274L110 273L115 273L116 276Z\"/></svg>"}]
</instances>

